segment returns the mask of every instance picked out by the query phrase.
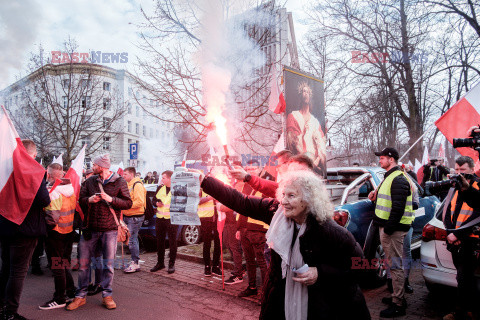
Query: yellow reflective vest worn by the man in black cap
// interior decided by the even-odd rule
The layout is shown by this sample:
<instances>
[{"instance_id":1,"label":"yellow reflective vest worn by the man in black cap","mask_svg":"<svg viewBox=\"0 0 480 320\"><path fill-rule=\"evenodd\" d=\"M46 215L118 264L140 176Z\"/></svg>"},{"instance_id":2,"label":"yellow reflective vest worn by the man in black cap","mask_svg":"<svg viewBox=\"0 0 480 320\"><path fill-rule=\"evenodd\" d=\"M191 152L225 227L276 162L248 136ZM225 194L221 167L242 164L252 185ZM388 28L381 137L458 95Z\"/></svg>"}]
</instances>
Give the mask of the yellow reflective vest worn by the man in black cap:
<instances>
[{"instance_id":1,"label":"yellow reflective vest worn by the man in black cap","mask_svg":"<svg viewBox=\"0 0 480 320\"><path fill-rule=\"evenodd\" d=\"M377 193L377 206L375 207L375 215L380 219L388 220L390 218L390 212L392 211L391 192L393 179L402 174L404 175L404 173L400 170L394 171L387 178L385 178L380 185L380 189ZM412 192L410 192L410 195L407 197L405 211L403 213L403 217L400 219L400 223L409 226L413 223L413 220L415 220L415 211L413 210Z\"/></svg>"}]
</instances>

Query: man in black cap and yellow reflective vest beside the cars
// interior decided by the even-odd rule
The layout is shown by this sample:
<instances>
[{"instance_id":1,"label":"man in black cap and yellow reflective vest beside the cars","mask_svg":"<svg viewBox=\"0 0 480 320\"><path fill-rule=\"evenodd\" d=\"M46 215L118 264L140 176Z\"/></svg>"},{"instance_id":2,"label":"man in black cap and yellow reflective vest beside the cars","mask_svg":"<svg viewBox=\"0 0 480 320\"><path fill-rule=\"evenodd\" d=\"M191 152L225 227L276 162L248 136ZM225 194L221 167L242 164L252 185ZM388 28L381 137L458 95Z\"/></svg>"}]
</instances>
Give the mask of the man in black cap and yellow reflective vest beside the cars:
<instances>
[{"instance_id":1,"label":"man in black cap and yellow reflective vest beside the cars","mask_svg":"<svg viewBox=\"0 0 480 320\"><path fill-rule=\"evenodd\" d=\"M397 165L398 151L394 148L385 148L375 152L375 155L380 157L380 167L387 172L383 182L368 198L376 202L373 224L380 230L380 242L389 262L393 285L392 299L382 299L389 307L382 310L380 316L393 318L406 314L405 275L402 268L403 241L415 219L415 212L410 184Z\"/></svg>"}]
</instances>

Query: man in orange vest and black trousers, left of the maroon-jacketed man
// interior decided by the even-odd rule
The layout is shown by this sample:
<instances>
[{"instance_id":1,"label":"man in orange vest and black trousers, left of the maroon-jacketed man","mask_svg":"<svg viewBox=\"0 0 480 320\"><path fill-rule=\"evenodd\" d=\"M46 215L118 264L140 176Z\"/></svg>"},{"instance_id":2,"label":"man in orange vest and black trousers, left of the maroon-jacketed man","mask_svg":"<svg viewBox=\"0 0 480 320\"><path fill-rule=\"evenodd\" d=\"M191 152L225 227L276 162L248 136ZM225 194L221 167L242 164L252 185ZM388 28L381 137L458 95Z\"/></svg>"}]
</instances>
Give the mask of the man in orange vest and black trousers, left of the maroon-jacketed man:
<instances>
[{"instance_id":1,"label":"man in orange vest and black trousers, left of the maroon-jacketed man","mask_svg":"<svg viewBox=\"0 0 480 320\"><path fill-rule=\"evenodd\" d=\"M50 205L45 208L47 238L45 249L52 260L52 273L55 282L53 299L39 306L41 310L63 308L69 299L75 297L75 283L70 273L73 245L73 219L77 197L69 179L62 179L63 167L52 163L47 168L47 181L50 189ZM61 183L52 188L55 181ZM66 295L68 296L66 296Z\"/></svg>"}]
</instances>

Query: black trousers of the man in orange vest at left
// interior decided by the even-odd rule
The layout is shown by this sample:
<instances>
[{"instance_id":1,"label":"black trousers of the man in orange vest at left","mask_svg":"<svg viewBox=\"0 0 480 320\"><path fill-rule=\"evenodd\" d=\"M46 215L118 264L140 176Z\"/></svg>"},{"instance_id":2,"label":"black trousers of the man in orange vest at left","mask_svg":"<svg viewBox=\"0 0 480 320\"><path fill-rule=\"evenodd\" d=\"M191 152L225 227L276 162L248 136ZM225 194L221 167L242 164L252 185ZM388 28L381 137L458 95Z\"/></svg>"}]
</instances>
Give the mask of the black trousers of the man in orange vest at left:
<instances>
[{"instance_id":1,"label":"black trousers of the man in orange vest at left","mask_svg":"<svg viewBox=\"0 0 480 320\"><path fill-rule=\"evenodd\" d=\"M65 292L73 292L75 283L70 272L73 245L73 232L61 234L49 231L45 239L45 249L52 259L52 273L55 283L53 298L56 301L65 301Z\"/></svg>"}]
</instances>

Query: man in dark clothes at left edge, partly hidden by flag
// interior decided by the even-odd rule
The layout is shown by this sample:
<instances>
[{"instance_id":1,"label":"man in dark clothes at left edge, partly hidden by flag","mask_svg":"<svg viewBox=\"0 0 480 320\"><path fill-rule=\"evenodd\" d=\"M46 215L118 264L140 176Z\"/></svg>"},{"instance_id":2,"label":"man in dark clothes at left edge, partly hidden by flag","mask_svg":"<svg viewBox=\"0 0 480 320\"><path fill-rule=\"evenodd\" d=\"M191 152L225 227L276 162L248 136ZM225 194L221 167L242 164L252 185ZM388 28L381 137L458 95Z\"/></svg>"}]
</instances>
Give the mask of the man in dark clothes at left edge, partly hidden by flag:
<instances>
[{"instance_id":1,"label":"man in dark clothes at left edge, partly hidden by flag","mask_svg":"<svg viewBox=\"0 0 480 320\"><path fill-rule=\"evenodd\" d=\"M27 153L35 159L37 147L31 140L23 140ZM45 236L47 227L43 208L50 204L47 184L42 181L25 220L19 226L0 216L2 270L0 272L0 304L2 319L22 319L17 314L23 281L38 237Z\"/></svg>"}]
</instances>

